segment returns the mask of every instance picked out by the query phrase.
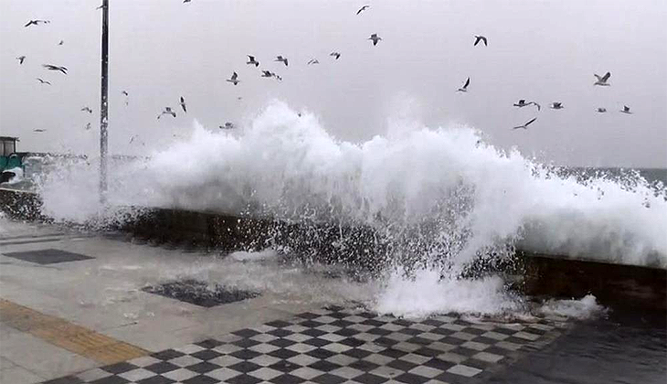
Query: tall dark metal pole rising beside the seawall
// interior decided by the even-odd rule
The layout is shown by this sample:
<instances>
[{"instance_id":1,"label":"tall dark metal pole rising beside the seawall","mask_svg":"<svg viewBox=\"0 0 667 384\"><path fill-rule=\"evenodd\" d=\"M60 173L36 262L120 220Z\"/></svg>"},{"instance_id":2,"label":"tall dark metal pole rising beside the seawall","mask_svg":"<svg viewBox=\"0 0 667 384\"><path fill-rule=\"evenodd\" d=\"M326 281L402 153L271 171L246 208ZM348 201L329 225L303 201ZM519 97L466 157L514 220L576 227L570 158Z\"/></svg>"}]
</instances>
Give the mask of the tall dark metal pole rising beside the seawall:
<instances>
[{"instance_id":1,"label":"tall dark metal pole rising beside the seawall","mask_svg":"<svg viewBox=\"0 0 667 384\"><path fill-rule=\"evenodd\" d=\"M109 123L109 0L102 0L102 72L100 107L100 200L107 199L107 124Z\"/></svg>"}]
</instances>

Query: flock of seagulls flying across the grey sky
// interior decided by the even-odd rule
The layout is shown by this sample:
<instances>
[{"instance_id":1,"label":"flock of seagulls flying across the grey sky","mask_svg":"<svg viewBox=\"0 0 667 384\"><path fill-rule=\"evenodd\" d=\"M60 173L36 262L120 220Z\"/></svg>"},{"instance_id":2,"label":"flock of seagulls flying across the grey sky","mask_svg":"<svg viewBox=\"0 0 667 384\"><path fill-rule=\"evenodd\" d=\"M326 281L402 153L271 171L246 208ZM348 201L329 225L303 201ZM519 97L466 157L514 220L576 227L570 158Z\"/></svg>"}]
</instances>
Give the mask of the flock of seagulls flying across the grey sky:
<instances>
[{"instance_id":1,"label":"flock of seagulls flying across the grey sky","mask_svg":"<svg viewBox=\"0 0 667 384\"><path fill-rule=\"evenodd\" d=\"M192 0L184 0L183 3L184 4L185 3L191 3L191 1ZM102 5L97 7L96 9L101 9L101 8L102 8ZM370 8L370 5L363 5L362 7L360 7L356 11L356 15L357 16L361 15L363 12L365 12L369 8ZM28 20L28 22L26 23L26 25L24 27L39 26L39 25L49 24L49 23L50 23L49 20L41 20L41 19L34 19L33 20L33 19L31 19L31 20ZM374 47L377 45L378 42L382 41L382 37L379 37L376 33L372 34L367 39L372 41ZM488 41L487 37L482 36L482 35L475 35L474 36L474 42L472 43L472 46L477 47L480 43L483 43L484 47L488 47L488 45L489 45L489 41ZM64 44L63 40L60 40L58 42L58 46L61 46L63 44ZM335 60L338 60L338 59L341 58L341 53L338 52L338 51L333 51L329 54L329 56L334 58ZM16 59L18 60L19 65L22 65L26 60L26 56L25 55L24 56L19 56ZM289 60L282 55L276 56L276 58L273 61L274 62L280 62L280 63L284 64L286 68L289 67ZM307 62L307 65L310 66L310 65L315 65L315 64L319 64L319 63L320 63L320 61L318 59L312 58ZM255 68L259 69L259 60L256 59L255 56L248 55L248 61L246 61L246 64L249 65L249 66L254 66ZM43 64L42 67L44 69L48 69L48 70L51 70L51 71L61 72L65 75L68 74L68 69L66 67L63 67L63 66L57 66L57 65L53 65L53 64ZM259 76L262 77L262 78L273 78L273 79L276 79L276 80L282 80L280 75L277 75L275 72L267 70L267 69L260 69L260 75ZM611 77L611 72L608 71L607 73L605 73L604 76L599 76L598 74L594 74L594 76L596 78L596 81L594 82L595 86L609 87L611 85L609 83L609 78ZM51 85L51 83L48 80L43 80L43 79L40 79L40 78L37 78L37 80L39 81L40 84ZM238 79L238 73L236 71L234 71L232 73L231 77L226 81L228 81L229 83L231 83L235 86L238 85L239 82L241 82L241 80ZM468 92L468 87L470 86L470 84L471 84L471 78L468 77L465 80L465 82L463 83L463 85L459 89L457 89L456 91L457 92L463 92L463 93ZM128 105L129 104L129 96L130 96L129 93L127 91L122 91L122 94L125 96L125 105ZM241 100L241 97L238 97L238 100ZM187 107L186 107L185 99L184 99L183 96L180 97L179 105L183 109L183 112L187 113ZM520 99L519 101L517 101L513 104L513 106L517 107L517 108L523 108L523 107L527 107L527 106L530 106L530 105L534 105L537 112L539 112L542 109L540 104L537 103L536 101L525 101L524 99ZM563 102L561 102L561 101L554 101L554 102L549 104L549 108L552 109L552 110L562 110L562 109L565 108L565 106L563 105ZM90 109L90 107L85 106L85 107L81 108L81 112L88 112L88 113L92 114L93 111L92 111L92 109ZM605 113L605 112L607 112L607 109L604 108L604 107L598 107L597 112L598 113ZM632 113L632 112L630 112L630 107L628 107L627 105L624 105L623 109L620 110L619 112L626 113L626 114L631 114ZM176 117L176 112L170 106L166 106L166 107L164 107L164 110L162 112L160 112L160 114L157 115L157 120L160 120L164 115L170 115L172 117ZM529 125L531 125L532 123L535 123L536 120L537 120L537 117L534 117L533 119L529 120L528 122L526 122L522 125L514 126L512 129L513 130L517 130L517 129L527 130ZM234 126L233 123L225 123L224 125L219 126L220 129L233 129L234 127L235 126ZM86 125L86 130L90 130L90 123L88 123ZM35 132L45 132L45 130L43 130L43 129L36 129L34 131ZM132 142L135 141L136 139L137 139L136 135L132 136L132 138L130 139L130 143L132 144Z\"/></svg>"}]
</instances>

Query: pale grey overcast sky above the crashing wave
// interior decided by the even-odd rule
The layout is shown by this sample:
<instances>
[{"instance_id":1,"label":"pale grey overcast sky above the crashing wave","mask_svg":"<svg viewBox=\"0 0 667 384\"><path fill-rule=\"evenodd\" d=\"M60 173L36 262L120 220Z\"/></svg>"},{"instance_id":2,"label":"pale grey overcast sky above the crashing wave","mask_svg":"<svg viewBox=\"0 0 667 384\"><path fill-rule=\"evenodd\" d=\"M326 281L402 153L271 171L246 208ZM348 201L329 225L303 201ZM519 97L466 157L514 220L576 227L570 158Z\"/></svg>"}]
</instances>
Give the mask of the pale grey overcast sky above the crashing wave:
<instances>
[{"instance_id":1,"label":"pale grey overcast sky above the crashing wave","mask_svg":"<svg viewBox=\"0 0 667 384\"><path fill-rule=\"evenodd\" d=\"M280 100L352 142L387 134L397 122L465 124L503 149L558 165L667 167L663 0L110 3L113 154L184 140L195 121L210 129L242 125ZM19 150L98 151L100 4L0 0L0 134L19 136ZM24 27L34 18L51 22ZM367 40L372 33L383 38L376 47ZM474 35L488 37L489 46L473 47ZM283 80L260 78L246 55ZM277 55L289 67L274 62ZM310 59L320 64L306 65ZM225 81L233 71L237 86ZM593 74L607 71L611 86L594 86ZM456 92L468 77L469 91ZM127 105L122 91L130 94ZM519 99L541 103L542 111L513 107ZM565 108L548 109L553 101ZM619 112L624 104L633 114ZM81 112L84 106L93 113ZM156 119L165 106L175 119ZM530 130L511 129L533 117ZM129 144L134 134L145 147Z\"/></svg>"}]
</instances>

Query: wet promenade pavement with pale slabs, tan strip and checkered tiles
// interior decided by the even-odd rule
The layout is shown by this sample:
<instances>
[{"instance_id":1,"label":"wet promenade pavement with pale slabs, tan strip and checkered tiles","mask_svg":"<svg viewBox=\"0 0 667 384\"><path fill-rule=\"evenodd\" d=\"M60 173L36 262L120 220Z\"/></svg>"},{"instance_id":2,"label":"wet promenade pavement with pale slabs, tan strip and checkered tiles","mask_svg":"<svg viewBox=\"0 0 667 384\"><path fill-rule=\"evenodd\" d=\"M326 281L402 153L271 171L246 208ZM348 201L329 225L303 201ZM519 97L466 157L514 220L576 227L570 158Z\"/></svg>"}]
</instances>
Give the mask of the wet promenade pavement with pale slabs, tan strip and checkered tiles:
<instances>
[{"instance_id":1,"label":"wet promenade pavement with pale slabs, tan strip and checkered tiles","mask_svg":"<svg viewBox=\"0 0 667 384\"><path fill-rule=\"evenodd\" d=\"M0 224L3 383L546 383L590 366L561 353L586 326L563 317L401 319L331 273Z\"/></svg>"}]
</instances>

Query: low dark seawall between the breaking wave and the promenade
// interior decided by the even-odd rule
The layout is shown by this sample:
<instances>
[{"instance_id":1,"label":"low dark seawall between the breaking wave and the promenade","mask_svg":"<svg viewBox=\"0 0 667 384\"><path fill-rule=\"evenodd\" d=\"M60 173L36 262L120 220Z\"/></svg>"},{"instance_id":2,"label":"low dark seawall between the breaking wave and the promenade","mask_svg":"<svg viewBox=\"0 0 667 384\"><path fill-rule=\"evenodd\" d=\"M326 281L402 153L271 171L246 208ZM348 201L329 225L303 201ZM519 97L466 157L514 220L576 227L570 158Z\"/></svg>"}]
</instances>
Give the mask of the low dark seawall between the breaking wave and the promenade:
<instances>
[{"instance_id":1,"label":"low dark seawall between the breaking wave and the promenade","mask_svg":"<svg viewBox=\"0 0 667 384\"><path fill-rule=\"evenodd\" d=\"M0 188L0 210L10 218L48 219L40 208L36 194ZM156 243L220 251L279 247L305 260L343 262L362 270L381 268L381 255L387 246L368 228L302 225L168 208L143 209L119 229ZM344 258L334 257L342 253ZM603 304L667 309L664 269L525 251L517 251L516 258L519 267L513 273L520 275L518 288L526 294L571 298L592 293Z\"/></svg>"}]
</instances>

